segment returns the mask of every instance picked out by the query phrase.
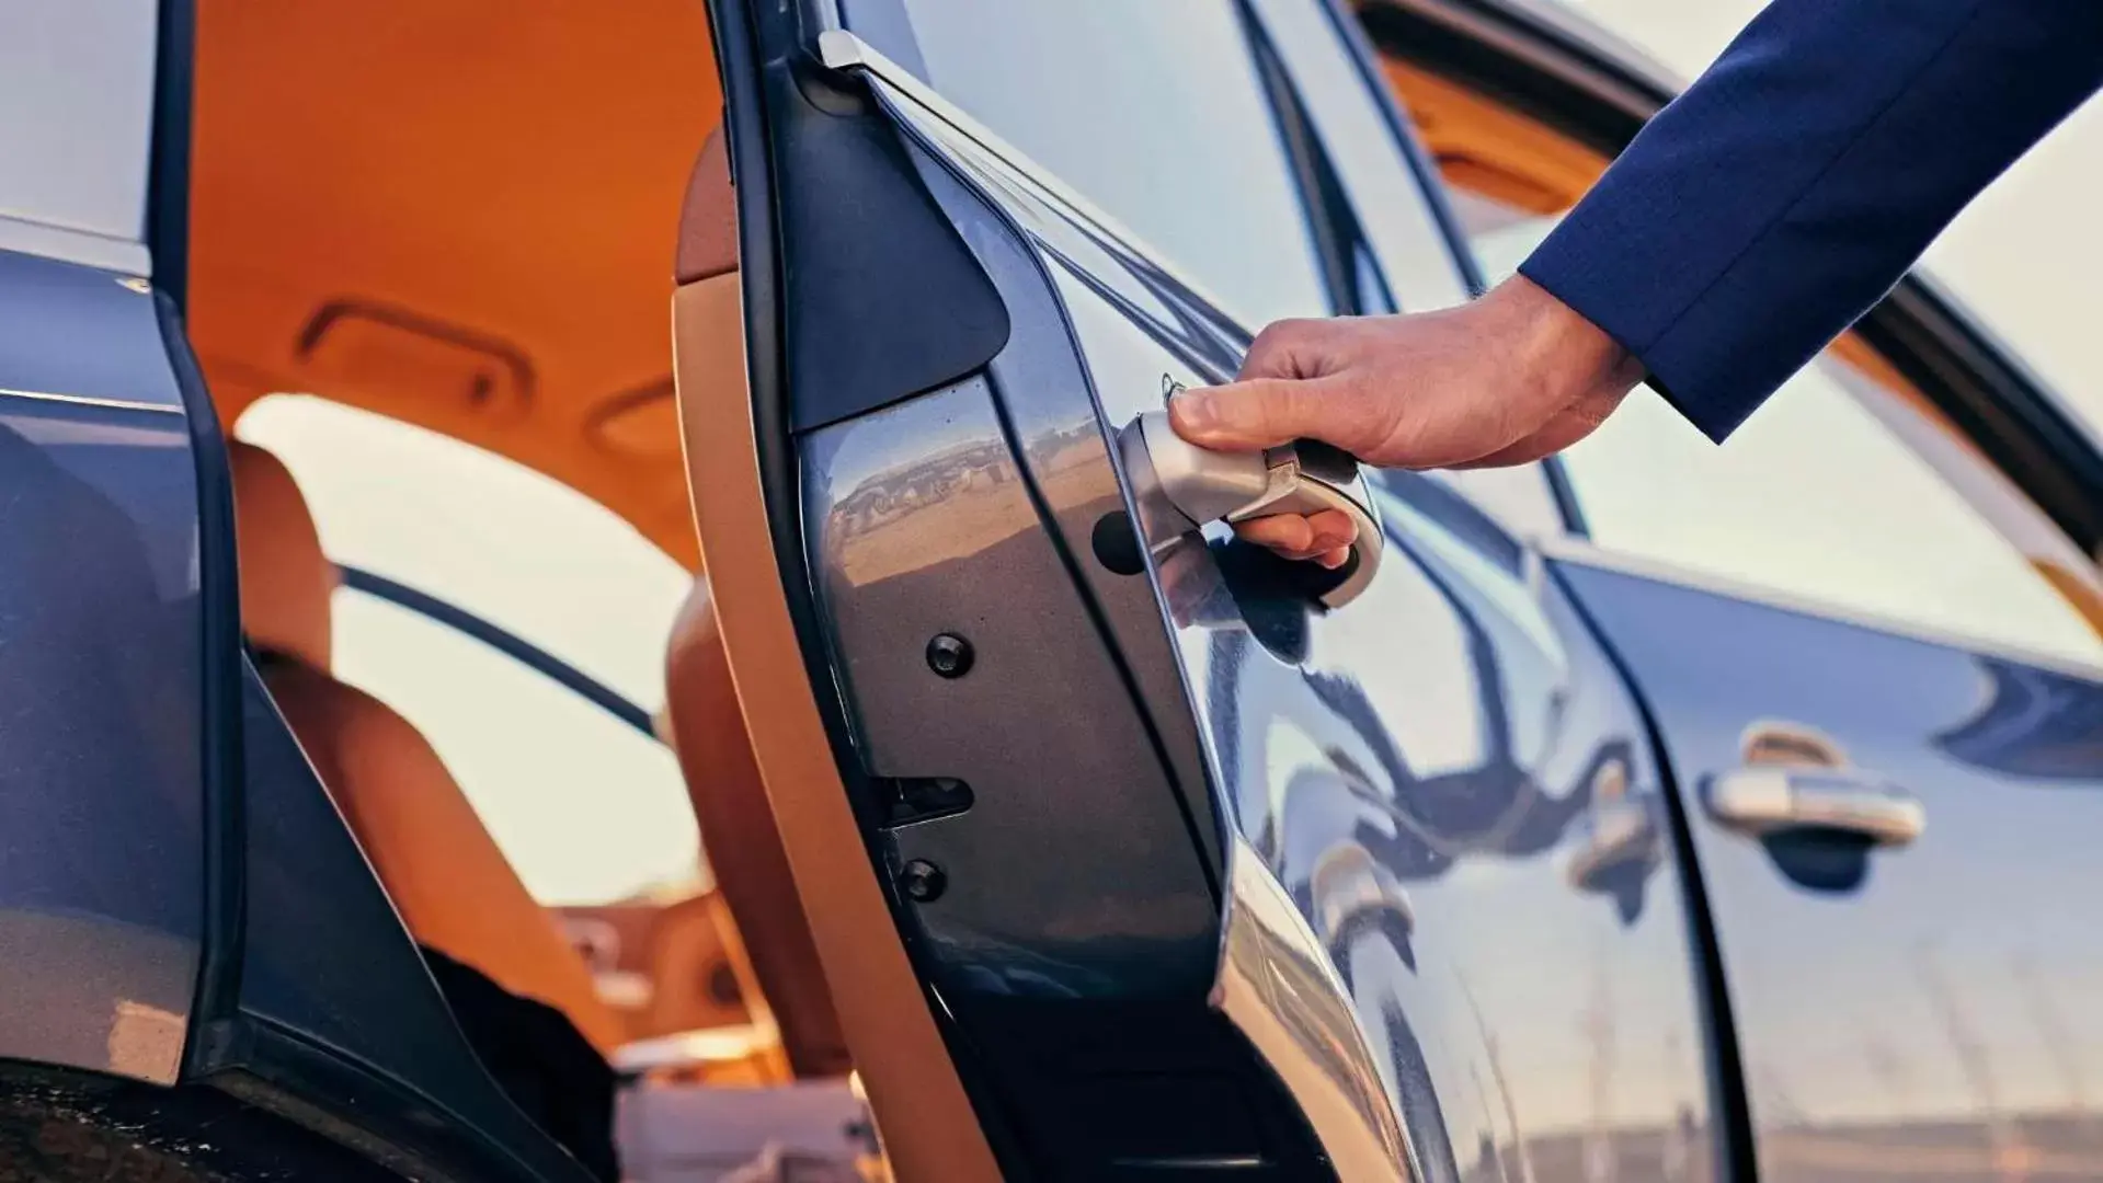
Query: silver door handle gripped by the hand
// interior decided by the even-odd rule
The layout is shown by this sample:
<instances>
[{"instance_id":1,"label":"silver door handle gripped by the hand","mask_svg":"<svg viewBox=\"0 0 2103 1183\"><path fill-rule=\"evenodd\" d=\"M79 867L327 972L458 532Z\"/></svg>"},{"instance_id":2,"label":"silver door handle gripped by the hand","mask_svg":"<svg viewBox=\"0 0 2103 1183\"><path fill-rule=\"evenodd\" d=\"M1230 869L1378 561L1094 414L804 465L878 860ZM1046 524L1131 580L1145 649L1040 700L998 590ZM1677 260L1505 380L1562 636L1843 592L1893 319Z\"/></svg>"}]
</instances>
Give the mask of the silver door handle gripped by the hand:
<instances>
[{"instance_id":1,"label":"silver door handle gripped by the hand","mask_svg":"<svg viewBox=\"0 0 2103 1183\"><path fill-rule=\"evenodd\" d=\"M1140 412L1117 439L1140 500L1148 548L1207 521L1342 511L1359 538L1335 582L1316 593L1327 607L1359 599L1380 569L1380 511L1359 460L1342 448L1295 439L1268 452L1211 452L1176 435L1167 412Z\"/></svg>"}]
</instances>

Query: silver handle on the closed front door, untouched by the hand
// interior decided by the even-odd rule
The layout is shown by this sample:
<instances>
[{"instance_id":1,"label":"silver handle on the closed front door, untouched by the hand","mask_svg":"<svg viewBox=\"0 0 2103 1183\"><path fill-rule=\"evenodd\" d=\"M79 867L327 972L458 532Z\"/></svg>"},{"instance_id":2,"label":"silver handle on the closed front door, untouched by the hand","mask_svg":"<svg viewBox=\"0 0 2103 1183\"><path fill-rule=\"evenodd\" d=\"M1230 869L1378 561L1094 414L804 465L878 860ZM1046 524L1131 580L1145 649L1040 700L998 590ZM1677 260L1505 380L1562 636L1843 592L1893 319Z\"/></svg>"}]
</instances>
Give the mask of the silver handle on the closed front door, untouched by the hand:
<instances>
[{"instance_id":1,"label":"silver handle on the closed front door, untouched by the hand","mask_svg":"<svg viewBox=\"0 0 2103 1183\"><path fill-rule=\"evenodd\" d=\"M1912 792L1853 769L1737 769L1710 777L1701 796L1710 817L1756 838L1781 830L1823 830L1878 847L1905 847L1928 824Z\"/></svg>"}]
</instances>

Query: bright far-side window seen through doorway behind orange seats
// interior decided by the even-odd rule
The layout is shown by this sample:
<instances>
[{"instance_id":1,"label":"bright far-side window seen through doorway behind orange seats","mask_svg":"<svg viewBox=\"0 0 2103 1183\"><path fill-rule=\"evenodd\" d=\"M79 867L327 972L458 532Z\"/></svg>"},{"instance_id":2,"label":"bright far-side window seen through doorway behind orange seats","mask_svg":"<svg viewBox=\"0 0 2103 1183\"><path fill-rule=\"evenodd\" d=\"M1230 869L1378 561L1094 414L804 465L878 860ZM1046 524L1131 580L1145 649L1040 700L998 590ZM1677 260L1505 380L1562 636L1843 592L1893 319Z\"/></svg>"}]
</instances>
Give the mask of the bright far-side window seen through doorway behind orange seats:
<instances>
[{"instance_id":1,"label":"bright far-side window seen through doorway behind orange seats","mask_svg":"<svg viewBox=\"0 0 2103 1183\"><path fill-rule=\"evenodd\" d=\"M336 563L471 611L644 710L662 704L665 641L692 578L608 509L513 460L305 395L259 401L238 435L286 462ZM532 666L339 588L334 674L425 733L543 904L707 883L673 754Z\"/></svg>"}]
</instances>

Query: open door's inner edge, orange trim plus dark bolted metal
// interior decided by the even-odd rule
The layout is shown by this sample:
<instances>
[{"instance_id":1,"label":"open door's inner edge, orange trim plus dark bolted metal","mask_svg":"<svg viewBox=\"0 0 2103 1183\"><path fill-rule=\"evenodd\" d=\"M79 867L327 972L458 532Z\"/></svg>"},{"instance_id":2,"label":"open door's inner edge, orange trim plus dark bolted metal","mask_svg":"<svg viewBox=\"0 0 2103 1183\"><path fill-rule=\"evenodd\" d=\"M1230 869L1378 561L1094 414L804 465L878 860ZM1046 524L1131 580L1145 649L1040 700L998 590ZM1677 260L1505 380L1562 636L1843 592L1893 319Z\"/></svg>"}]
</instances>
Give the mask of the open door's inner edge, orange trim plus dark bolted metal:
<instances>
[{"instance_id":1,"label":"open door's inner edge, orange trim plus dark bolted metal","mask_svg":"<svg viewBox=\"0 0 2103 1183\"><path fill-rule=\"evenodd\" d=\"M1094 551L1127 500L1039 244L986 198L1020 172L965 158L967 124L852 34L736 2L715 21L738 233L726 252L730 177L705 160L681 418L730 668L887 1154L902 1179L1306 1177L1300 1109L1213 1004L1220 813L1188 712L1150 719L1182 689L1129 525L1125 574ZM1342 1017L1304 1002L1289 1021ZM1392 1154L1386 1105L1352 1093L1363 1042L1331 1038L1361 1154Z\"/></svg>"}]
</instances>

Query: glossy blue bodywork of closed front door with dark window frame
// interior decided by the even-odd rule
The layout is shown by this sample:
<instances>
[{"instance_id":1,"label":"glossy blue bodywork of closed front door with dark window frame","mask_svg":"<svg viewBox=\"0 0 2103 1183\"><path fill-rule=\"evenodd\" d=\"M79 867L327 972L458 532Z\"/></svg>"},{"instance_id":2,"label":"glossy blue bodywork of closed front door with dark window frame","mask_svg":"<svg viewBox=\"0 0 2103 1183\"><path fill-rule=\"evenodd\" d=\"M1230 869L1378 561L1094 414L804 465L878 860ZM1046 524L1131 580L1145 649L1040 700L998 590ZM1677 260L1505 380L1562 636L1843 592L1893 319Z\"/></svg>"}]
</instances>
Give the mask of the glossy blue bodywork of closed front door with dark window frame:
<instances>
[{"instance_id":1,"label":"glossy blue bodywork of closed front door with dark window frame","mask_svg":"<svg viewBox=\"0 0 2103 1183\"><path fill-rule=\"evenodd\" d=\"M1386 53L1607 151L1680 80L1541 0L1371 0ZM1438 48L1443 46L1443 48ZM1931 279L1859 326L2095 553L2092 429ZM1975 464L1973 452L1962 456ZM1954 473L1952 479L1964 479ZM2095 1177L2097 670L1825 618L1584 551L1565 580L1642 689L1689 805L1767 1179ZM1748 738L1809 727L1924 805L1907 849L1756 840L1701 809ZM1855 876L1859 883L1849 885ZM1806 883L1809 880L1809 883Z\"/></svg>"}]
</instances>

